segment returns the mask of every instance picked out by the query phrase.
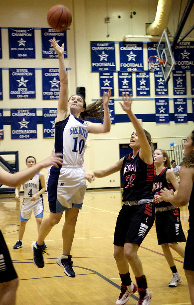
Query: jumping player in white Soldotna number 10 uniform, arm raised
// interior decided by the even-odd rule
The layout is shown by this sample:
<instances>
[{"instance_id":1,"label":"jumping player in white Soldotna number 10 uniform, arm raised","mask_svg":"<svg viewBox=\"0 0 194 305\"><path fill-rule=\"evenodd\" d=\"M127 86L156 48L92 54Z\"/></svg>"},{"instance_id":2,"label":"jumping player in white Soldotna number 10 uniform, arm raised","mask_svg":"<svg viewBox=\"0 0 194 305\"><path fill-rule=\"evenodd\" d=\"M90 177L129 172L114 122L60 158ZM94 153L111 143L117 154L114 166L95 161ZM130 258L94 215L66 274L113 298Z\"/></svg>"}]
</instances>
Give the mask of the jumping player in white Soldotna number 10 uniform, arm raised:
<instances>
[{"instance_id":1,"label":"jumping player in white Soldotna number 10 uniform, arm raised","mask_svg":"<svg viewBox=\"0 0 194 305\"><path fill-rule=\"evenodd\" d=\"M50 214L44 219L38 235L37 242L32 243L33 262L39 267L44 267L42 256L43 241L52 227L59 223L65 211L63 225L63 254L57 259L70 277L75 277L72 268L72 255L70 255L74 239L75 225L79 210L82 207L86 190L84 162L84 146L88 133L104 133L110 131L110 114L108 103L111 95L103 93L102 100L86 107L84 96L72 95L68 99L68 78L64 66L64 44L59 47L56 40L51 39L52 47L59 56L60 91L55 123L54 152L63 154L63 165L55 170L51 167L47 177L47 192ZM103 104L103 111L102 111ZM84 121L84 117L102 118L102 123Z\"/></svg>"}]
</instances>

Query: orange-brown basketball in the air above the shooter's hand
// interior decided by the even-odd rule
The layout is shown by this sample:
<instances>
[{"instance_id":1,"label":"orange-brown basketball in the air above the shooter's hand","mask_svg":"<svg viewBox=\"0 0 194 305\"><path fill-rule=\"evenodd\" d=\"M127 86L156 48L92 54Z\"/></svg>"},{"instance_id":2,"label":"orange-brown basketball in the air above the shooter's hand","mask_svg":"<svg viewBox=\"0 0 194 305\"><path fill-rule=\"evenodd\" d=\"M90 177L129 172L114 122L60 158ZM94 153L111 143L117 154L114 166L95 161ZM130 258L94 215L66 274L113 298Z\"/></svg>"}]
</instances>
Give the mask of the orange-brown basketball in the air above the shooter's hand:
<instances>
[{"instance_id":1,"label":"orange-brown basketball in the air above the shooter's hand","mask_svg":"<svg viewBox=\"0 0 194 305\"><path fill-rule=\"evenodd\" d=\"M66 6L57 4L49 9L47 14L47 21L53 29L62 32L70 26L72 16L70 10Z\"/></svg>"}]
</instances>

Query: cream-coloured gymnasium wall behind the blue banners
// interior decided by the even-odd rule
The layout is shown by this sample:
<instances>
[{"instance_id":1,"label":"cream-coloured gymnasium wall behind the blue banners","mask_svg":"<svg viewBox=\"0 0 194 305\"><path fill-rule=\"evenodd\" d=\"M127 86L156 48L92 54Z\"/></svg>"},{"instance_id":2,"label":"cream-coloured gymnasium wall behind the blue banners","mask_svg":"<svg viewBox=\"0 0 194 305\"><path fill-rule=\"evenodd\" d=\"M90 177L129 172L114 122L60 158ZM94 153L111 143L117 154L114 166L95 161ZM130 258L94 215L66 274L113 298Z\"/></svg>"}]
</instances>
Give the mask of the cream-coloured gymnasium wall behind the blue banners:
<instances>
[{"instance_id":1,"label":"cream-coloured gymnasium wall behind the blue banners","mask_svg":"<svg viewBox=\"0 0 194 305\"><path fill-rule=\"evenodd\" d=\"M125 35L146 35L146 23L152 23L155 19L157 0L67 0L60 2L66 5L73 15L73 22L70 30L67 30L67 52L68 58L65 65L69 77L69 95L76 91L76 87L86 88L86 102L89 104L92 99L99 98L99 73L91 73L90 41L122 41ZM186 0L182 1L181 13L185 8ZM58 4L58 1L37 1L9 0L1 2L0 27L48 27L46 15L48 9ZM168 30L171 36L177 29L180 0L173 0ZM136 15L130 18L130 13L135 11ZM118 16L121 18L118 18ZM110 23L105 23L104 18L110 17ZM193 11L184 27L184 33L192 26ZM109 34L109 37L107 35ZM193 31L186 38L194 40ZM128 41L130 41L128 39ZM131 41L158 41L146 38L131 39ZM41 30L35 30L36 59L9 59L8 30L2 29L2 54L0 66L6 67L58 67L58 59L42 59L41 53ZM119 70L119 46L116 44L116 67ZM144 44L144 62L146 58L146 44ZM191 98L190 72L187 76L187 95L181 97ZM57 101L42 100L42 79L41 70L35 70L36 98L35 99L9 99L9 71L2 70L3 77L3 101L0 108L8 109L3 111L4 116L10 116L10 108L52 108L57 107ZM135 88L135 73L132 75L133 88ZM172 77L168 83L168 98L173 98ZM118 99L117 73L114 73L114 98ZM134 98L136 92L134 90ZM150 73L150 97L155 97L154 75ZM176 96L178 97L178 96ZM169 111L174 113L173 100L169 100ZM187 100L187 111L192 113L192 100ZM154 100L135 100L133 112L136 114L155 113ZM115 114L124 114L118 101L115 101ZM42 115L42 110L37 110L37 116ZM193 122L156 124L155 122L142 122L142 127L148 130L153 142L158 143L162 149L170 149L170 142L181 144L181 139L193 129ZM90 169L103 169L119 160L119 144L129 143L129 137L133 127L131 123L116 123L111 125L111 131L107 134L89 134L86 142L87 147L84 155L84 167ZM28 155L36 157L37 161L48 156L54 144L54 139L43 139L43 128L37 125L37 139L13 140L11 139L11 126L4 125L4 140L0 142L0 150L19 151L19 169L25 168L25 159ZM45 177L47 170L43 170ZM110 182L114 180L115 182ZM120 186L120 173L109 177L96 179L88 188L117 187Z\"/></svg>"}]
</instances>

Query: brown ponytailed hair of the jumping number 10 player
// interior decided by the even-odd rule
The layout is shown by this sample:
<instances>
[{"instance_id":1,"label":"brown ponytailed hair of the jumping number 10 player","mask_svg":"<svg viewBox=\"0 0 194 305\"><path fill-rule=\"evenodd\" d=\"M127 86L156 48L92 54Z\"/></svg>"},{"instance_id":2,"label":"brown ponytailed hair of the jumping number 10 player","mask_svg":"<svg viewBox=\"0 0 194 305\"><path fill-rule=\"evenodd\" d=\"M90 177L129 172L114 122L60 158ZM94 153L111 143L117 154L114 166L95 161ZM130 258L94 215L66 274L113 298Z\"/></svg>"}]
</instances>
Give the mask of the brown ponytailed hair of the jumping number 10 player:
<instances>
[{"instance_id":1,"label":"brown ponytailed hair of the jumping number 10 player","mask_svg":"<svg viewBox=\"0 0 194 305\"><path fill-rule=\"evenodd\" d=\"M104 111L103 111L103 108L102 108L102 99L97 99L92 104L86 106L85 99L82 95L80 95L80 94L74 94L74 95L78 95L83 99L83 108L85 110L84 110L84 112L80 113L80 119L84 120L85 117L88 117L88 118L93 117L93 118L103 120ZM74 95L71 95L70 98ZM68 101L70 100L70 98L68 99Z\"/></svg>"}]
</instances>

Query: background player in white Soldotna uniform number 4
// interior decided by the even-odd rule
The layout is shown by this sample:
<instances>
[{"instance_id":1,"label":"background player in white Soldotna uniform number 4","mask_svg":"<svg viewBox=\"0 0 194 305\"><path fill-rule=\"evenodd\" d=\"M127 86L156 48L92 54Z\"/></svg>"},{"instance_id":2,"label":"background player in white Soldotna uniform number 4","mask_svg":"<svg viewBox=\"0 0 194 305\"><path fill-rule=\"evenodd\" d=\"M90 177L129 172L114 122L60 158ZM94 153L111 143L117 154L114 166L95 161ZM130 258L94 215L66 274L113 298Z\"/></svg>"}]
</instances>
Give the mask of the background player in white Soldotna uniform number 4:
<instances>
[{"instance_id":1,"label":"background player in white Soldotna uniform number 4","mask_svg":"<svg viewBox=\"0 0 194 305\"><path fill-rule=\"evenodd\" d=\"M26 158L27 167L32 167L36 164L36 159L33 156L28 156ZM19 192L21 185L18 185L15 189L15 200L19 200ZM42 194L45 192L45 177L42 172L35 174L32 179L23 183L23 202L20 211L20 229L19 238L13 249L19 249L22 246L23 234L26 228L27 221L31 218L31 213L34 211L34 216L36 218L37 228L39 230L42 217L43 217L43 198ZM44 249L47 246L44 244Z\"/></svg>"}]
</instances>

